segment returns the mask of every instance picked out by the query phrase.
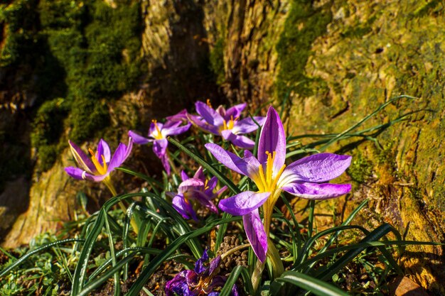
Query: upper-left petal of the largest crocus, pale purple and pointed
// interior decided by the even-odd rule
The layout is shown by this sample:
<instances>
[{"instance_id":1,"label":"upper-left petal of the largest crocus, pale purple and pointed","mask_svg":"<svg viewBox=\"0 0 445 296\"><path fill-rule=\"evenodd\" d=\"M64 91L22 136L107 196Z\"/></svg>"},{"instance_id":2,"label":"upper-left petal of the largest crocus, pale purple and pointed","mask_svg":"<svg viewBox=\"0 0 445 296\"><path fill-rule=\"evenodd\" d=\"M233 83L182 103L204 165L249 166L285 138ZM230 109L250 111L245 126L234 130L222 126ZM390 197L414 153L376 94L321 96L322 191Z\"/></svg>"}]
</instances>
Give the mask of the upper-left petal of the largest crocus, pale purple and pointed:
<instances>
[{"instance_id":1,"label":"upper-left petal of the largest crocus, pale purple and pointed","mask_svg":"<svg viewBox=\"0 0 445 296\"><path fill-rule=\"evenodd\" d=\"M241 175L247 175L250 178L257 177L259 162L248 150L245 150L244 158L239 158L234 153L228 152L214 143L205 144L205 148L230 170L234 170Z\"/></svg>"}]
</instances>

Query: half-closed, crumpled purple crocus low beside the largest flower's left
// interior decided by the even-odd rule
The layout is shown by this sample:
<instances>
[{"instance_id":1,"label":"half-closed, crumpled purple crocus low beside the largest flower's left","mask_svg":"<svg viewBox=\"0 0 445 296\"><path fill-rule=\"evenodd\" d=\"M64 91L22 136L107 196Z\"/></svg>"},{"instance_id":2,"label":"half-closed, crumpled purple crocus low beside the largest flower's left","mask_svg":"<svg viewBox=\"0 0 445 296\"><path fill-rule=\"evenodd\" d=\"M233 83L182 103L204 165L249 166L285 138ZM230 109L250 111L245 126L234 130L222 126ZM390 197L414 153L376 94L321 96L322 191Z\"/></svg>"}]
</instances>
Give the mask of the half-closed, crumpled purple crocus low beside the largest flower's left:
<instances>
[{"instance_id":1,"label":"half-closed, crumpled purple crocus low beside the largest flower's left","mask_svg":"<svg viewBox=\"0 0 445 296\"><path fill-rule=\"evenodd\" d=\"M184 219L194 219L198 221L196 212L193 209L192 202L198 202L198 204L210 209L210 211L218 213L218 209L213 204L212 199L218 197L223 193L227 187L224 186L217 192L213 192L218 179L216 177L205 178L203 168L199 167L193 177L188 177L186 172L181 172L182 181L178 187L178 193L167 192L168 195L173 197L173 207L178 211Z\"/></svg>"}]
</instances>

